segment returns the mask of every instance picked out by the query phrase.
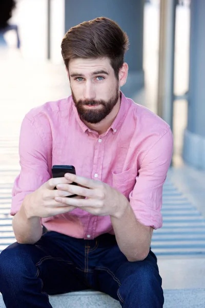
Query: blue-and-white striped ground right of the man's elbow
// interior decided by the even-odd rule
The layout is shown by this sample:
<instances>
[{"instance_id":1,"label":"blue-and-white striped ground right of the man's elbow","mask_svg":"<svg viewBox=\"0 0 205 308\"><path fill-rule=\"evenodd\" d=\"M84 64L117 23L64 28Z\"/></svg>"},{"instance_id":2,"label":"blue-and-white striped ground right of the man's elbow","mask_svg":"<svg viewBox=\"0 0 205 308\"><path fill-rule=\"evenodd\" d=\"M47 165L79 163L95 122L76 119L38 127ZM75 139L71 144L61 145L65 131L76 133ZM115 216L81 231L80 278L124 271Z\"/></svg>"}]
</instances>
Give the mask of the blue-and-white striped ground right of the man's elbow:
<instances>
[{"instance_id":1,"label":"blue-and-white striped ground right of the man's elbow","mask_svg":"<svg viewBox=\"0 0 205 308\"><path fill-rule=\"evenodd\" d=\"M162 216L163 226L154 230L151 243L156 255L205 253L205 219L169 180L163 186Z\"/></svg>"}]
</instances>

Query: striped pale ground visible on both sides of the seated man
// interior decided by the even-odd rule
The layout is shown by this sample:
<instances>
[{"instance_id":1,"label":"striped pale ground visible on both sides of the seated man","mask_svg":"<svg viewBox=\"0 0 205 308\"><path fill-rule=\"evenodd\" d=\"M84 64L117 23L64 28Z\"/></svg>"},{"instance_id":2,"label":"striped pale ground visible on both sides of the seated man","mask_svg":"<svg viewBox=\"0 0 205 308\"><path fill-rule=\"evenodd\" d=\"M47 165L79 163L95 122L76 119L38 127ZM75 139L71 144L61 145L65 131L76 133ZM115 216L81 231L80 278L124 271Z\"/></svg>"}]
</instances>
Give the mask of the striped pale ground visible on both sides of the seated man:
<instances>
[{"instance_id":1,"label":"striped pale ground visible on both sides of the seated man","mask_svg":"<svg viewBox=\"0 0 205 308\"><path fill-rule=\"evenodd\" d=\"M17 174L18 168L0 168L0 252L15 241L9 212ZM205 253L205 219L169 180L163 187L162 215L163 227L154 230L151 244L156 255Z\"/></svg>"}]
</instances>

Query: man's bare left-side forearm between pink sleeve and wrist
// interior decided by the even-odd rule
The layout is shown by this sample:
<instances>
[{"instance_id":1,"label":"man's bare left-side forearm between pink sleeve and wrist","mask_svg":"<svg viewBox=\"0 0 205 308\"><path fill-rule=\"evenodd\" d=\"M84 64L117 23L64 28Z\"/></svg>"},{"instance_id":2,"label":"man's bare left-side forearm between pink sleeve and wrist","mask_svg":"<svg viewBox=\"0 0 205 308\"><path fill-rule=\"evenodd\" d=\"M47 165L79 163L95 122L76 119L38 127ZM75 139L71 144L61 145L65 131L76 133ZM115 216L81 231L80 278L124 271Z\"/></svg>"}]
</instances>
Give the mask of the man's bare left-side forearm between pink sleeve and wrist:
<instances>
[{"instance_id":1,"label":"man's bare left-side forearm between pink sleeve and wrist","mask_svg":"<svg viewBox=\"0 0 205 308\"><path fill-rule=\"evenodd\" d=\"M16 241L20 244L34 244L42 236L39 217L29 217L25 210L27 198L24 199L18 213L14 216L12 226Z\"/></svg>"}]
</instances>

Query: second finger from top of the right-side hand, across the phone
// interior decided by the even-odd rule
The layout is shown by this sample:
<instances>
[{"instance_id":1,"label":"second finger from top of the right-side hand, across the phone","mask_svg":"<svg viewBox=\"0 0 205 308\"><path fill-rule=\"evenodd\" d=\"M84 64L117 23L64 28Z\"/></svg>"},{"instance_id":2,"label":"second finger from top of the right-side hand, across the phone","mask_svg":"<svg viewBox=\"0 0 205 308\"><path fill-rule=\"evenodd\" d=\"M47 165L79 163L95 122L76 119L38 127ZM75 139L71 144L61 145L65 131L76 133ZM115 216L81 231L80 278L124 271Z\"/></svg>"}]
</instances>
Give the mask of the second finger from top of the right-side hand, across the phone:
<instances>
[{"instance_id":1,"label":"second finger from top of the right-side hand, across the phone","mask_svg":"<svg viewBox=\"0 0 205 308\"><path fill-rule=\"evenodd\" d=\"M82 186L71 185L71 184L57 184L57 189L69 191L71 195L84 196L87 198L97 198L97 191ZM62 196L63 197L63 196Z\"/></svg>"}]
</instances>

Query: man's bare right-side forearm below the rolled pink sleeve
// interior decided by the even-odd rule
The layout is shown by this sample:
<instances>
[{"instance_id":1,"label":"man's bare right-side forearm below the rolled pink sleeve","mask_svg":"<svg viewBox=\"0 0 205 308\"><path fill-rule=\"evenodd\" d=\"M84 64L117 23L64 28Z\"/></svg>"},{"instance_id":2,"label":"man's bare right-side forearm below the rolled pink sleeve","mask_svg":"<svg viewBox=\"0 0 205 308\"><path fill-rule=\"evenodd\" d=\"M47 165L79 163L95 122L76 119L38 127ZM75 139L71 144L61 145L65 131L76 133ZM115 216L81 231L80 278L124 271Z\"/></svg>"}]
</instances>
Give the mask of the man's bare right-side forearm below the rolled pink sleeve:
<instances>
[{"instance_id":1,"label":"man's bare right-side forearm below the rolled pink sleeve","mask_svg":"<svg viewBox=\"0 0 205 308\"><path fill-rule=\"evenodd\" d=\"M140 224L127 201L125 210L111 217L117 244L129 261L144 260L150 250L152 228Z\"/></svg>"}]
</instances>

